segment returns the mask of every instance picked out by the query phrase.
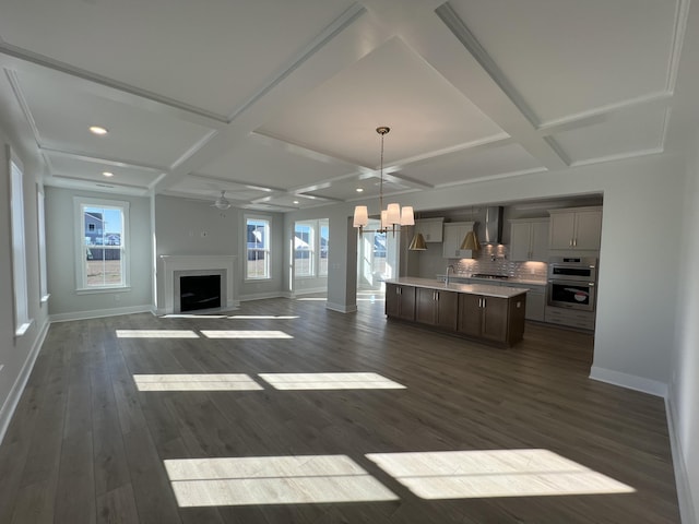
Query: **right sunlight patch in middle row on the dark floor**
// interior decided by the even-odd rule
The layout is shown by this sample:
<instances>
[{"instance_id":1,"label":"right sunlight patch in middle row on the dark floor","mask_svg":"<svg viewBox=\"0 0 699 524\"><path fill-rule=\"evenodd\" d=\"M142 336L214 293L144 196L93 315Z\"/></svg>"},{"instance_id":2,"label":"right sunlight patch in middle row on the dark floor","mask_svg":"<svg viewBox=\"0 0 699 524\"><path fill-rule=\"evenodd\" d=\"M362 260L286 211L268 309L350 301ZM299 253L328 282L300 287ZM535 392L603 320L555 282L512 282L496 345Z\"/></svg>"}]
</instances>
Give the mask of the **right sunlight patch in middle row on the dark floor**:
<instances>
[{"instance_id":1,"label":"right sunlight patch in middle row on the dark floor","mask_svg":"<svg viewBox=\"0 0 699 524\"><path fill-rule=\"evenodd\" d=\"M277 390L404 390L378 373L259 373Z\"/></svg>"}]
</instances>

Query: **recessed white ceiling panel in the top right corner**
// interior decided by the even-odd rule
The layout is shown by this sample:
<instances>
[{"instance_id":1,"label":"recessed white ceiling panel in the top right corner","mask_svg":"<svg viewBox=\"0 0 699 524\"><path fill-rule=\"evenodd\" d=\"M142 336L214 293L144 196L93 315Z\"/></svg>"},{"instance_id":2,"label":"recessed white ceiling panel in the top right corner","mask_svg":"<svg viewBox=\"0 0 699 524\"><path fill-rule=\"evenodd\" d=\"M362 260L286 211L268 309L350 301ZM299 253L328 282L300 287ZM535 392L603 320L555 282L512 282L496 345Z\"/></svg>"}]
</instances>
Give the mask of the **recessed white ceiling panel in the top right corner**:
<instances>
[{"instance_id":1,"label":"recessed white ceiling panel in the top right corner","mask_svg":"<svg viewBox=\"0 0 699 524\"><path fill-rule=\"evenodd\" d=\"M540 122L667 90L677 0L449 3Z\"/></svg>"}]
</instances>

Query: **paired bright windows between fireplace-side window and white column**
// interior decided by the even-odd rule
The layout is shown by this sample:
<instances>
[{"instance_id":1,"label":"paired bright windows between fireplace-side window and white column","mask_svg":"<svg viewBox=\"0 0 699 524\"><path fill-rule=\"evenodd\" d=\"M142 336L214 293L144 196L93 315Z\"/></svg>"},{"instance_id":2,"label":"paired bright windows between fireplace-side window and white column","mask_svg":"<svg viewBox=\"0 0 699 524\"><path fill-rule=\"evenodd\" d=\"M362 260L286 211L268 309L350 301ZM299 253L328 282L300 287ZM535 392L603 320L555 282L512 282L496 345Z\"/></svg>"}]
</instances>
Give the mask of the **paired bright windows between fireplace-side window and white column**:
<instances>
[{"instance_id":1,"label":"paired bright windows between fireplace-side window and white column","mask_svg":"<svg viewBox=\"0 0 699 524\"><path fill-rule=\"evenodd\" d=\"M294 267L297 277L328 276L328 218L294 225Z\"/></svg>"}]
</instances>

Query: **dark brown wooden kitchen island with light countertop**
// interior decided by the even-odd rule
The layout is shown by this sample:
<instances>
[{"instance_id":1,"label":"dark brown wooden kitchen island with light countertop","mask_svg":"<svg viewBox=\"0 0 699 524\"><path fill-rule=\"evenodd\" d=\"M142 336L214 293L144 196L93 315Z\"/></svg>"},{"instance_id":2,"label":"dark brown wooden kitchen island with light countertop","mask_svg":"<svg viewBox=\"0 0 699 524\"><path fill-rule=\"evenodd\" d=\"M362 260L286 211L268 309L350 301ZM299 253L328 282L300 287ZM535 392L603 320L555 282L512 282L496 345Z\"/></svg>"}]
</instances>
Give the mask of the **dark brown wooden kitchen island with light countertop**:
<instances>
[{"instance_id":1,"label":"dark brown wooden kitchen island with light countertop","mask_svg":"<svg viewBox=\"0 0 699 524\"><path fill-rule=\"evenodd\" d=\"M389 319L512 346L524 334L526 289L400 277L386 283Z\"/></svg>"}]
</instances>

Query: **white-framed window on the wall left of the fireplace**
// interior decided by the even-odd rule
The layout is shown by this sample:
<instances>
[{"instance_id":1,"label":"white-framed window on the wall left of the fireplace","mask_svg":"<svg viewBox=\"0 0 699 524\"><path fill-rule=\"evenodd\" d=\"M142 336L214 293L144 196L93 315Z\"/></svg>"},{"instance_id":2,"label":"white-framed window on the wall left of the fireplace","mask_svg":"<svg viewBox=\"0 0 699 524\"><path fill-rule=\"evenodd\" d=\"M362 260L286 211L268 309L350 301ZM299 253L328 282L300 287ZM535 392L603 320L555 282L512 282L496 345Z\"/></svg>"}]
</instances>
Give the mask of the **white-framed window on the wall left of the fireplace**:
<instances>
[{"instance_id":1,"label":"white-framed window on the wall left of the fireplace","mask_svg":"<svg viewBox=\"0 0 699 524\"><path fill-rule=\"evenodd\" d=\"M79 290L129 286L129 203L75 198Z\"/></svg>"}]
</instances>

